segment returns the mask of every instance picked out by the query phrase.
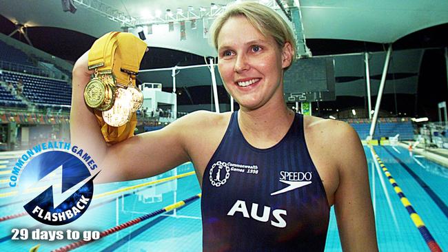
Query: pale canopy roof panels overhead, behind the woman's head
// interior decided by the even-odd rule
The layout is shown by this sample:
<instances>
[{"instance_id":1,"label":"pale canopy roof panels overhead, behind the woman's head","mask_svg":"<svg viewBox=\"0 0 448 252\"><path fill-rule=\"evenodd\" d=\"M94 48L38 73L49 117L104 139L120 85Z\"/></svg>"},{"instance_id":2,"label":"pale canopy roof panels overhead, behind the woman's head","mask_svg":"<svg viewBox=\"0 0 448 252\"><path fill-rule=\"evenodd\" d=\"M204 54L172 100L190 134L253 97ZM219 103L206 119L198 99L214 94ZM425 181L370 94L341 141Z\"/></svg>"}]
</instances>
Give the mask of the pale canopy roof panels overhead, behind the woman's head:
<instances>
[{"instance_id":1,"label":"pale canopy roof panels overhead, behind the woman's head","mask_svg":"<svg viewBox=\"0 0 448 252\"><path fill-rule=\"evenodd\" d=\"M84 0L96 1L96 0ZM188 6L210 8L206 0L103 0L111 8L139 18L156 10L184 11ZM233 1L213 1L225 6ZM266 1L265 1L266 2ZM75 1L75 6L77 2ZM374 43L394 43L398 39L431 26L448 23L448 1L441 0L301 0L301 12L307 39L344 39ZM62 12L59 0L0 1L0 14L28 26L46 26L75 30L94 37L119 30L120 23L104 19L92 10L77 7L77 12Z\"/></svg>"}]
</instances>

